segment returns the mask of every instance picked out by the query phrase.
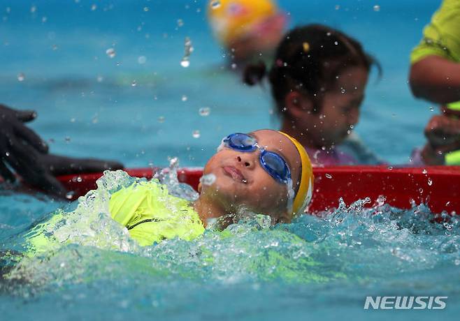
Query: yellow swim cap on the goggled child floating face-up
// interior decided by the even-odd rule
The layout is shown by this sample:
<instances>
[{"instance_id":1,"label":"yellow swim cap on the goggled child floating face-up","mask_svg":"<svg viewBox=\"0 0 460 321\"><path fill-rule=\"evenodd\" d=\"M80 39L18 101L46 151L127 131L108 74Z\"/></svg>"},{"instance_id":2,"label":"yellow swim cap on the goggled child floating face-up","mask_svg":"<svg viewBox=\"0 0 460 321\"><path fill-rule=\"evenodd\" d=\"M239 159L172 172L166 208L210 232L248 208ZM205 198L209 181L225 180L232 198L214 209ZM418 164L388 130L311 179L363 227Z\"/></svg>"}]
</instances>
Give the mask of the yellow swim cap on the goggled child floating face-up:
<instances>
[{"instance_id":1,"label":"yellow swim cap on the goggled child floating face-up","mask_svg":"<svg viewBox=\"0 0 460 321\"><path fill-rule=\"evenodd\" d=\"M299 190L297 191L297 194L294 197L294 203L292 204L292 215L303 214L310 203L313 194L313 181L315 180L315 177L313 176L312 163L310 162L307 151L303 148L300 142L298 142L294 137L287 135L287 133L283 133L281 131L280 133L291 140L301 156L302 174L299 182Z\"/></svg>"}]
</instances>

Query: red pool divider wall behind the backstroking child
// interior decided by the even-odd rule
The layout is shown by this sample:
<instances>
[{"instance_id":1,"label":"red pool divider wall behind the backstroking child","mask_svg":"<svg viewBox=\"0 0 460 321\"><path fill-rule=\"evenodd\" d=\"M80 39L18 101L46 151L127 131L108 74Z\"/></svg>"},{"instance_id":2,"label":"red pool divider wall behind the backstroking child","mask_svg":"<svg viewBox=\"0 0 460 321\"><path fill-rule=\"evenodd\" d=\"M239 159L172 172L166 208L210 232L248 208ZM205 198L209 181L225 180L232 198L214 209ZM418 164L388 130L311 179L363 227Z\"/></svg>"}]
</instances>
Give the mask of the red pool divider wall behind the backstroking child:
<instances>
[{"instance_id":1,"label":"red pool divider wall behind the backstroking child","mask_svg":"<svg viewBox=\"0 0 460 321\"><path fill-rule=\"evenodd\" d=\"M127 170L133 177L152 177L151 168ZM182 169L178 178L194 188L198 186L201 169ZM424 168L381 167L381 166L337 166L316 167L315 186L310 213L337 207L339 197L346 204L371 197L371 207L380 195L386 197L386 203L401 209L410 208L410 200L417 204L428 204L431 211L460 213L460 167L433 166ZM80 177L80 179L77 179ZM96 179L101 173L66 175L59 181L75 197L85 195L96 188Z\"/></svg>"}]
</instances>

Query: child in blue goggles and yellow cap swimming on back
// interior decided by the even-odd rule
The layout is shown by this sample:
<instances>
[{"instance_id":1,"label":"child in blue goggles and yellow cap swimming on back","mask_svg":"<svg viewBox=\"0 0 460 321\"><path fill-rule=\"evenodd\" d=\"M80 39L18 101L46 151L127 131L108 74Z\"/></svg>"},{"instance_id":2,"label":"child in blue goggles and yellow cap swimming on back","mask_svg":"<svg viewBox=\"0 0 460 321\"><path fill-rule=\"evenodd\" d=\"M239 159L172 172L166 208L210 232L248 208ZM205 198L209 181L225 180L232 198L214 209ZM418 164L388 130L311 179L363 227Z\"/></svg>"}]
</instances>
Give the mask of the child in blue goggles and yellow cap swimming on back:
<instances>
[{"instance_id":1,"label":"child in blue goggles and yellow cap swimming on back","mask_svg":"<svg viewBox=\"0 0 460 321\"><path fill-rule=\"evenodd\" d=\"M157 180L131 184L110 196L110 215L139 245L150 246L163 239L199 237L210 220L236 216L241 209L270 216L273 224L289 223L303 214L312 197L305 149L276 130L228 135L203 177L213 177L212 182L199 184L199 198L192 203L170 195ZM72 243L69 234L78 225L68 226L71 220L64 216L55 214L27 234L29 255Z\"/></svg>"}]
</instances>

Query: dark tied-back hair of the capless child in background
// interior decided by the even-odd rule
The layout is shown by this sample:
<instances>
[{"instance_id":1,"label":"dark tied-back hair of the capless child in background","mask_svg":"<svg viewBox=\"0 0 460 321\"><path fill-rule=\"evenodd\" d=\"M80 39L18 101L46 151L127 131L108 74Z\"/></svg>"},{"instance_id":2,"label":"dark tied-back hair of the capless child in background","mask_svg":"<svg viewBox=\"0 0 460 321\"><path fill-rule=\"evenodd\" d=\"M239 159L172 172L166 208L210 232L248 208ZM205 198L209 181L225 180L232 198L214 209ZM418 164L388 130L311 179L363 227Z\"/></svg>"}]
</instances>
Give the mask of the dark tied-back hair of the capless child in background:
<instances>
[{"instance_id":1,"label":"dark tied-back hair of the capless child in background","mask_svg":"<svg viewBox=\"0 0 460 321\"><path fill-rule=\"evenodd\" d=\"M270 70L262 61L249 65L245 68L243 80L254 85L268 74L280 113L285 110L286 95L294 90L308 94L315 104L315 112L318 112L322 94L335 84L340 71L351 66L364 66L370 71L373 64L381 75L378 61L366 54L357 40L331 27L308 24L296 27L284 36Z\"/></svg>"}]
</instances>

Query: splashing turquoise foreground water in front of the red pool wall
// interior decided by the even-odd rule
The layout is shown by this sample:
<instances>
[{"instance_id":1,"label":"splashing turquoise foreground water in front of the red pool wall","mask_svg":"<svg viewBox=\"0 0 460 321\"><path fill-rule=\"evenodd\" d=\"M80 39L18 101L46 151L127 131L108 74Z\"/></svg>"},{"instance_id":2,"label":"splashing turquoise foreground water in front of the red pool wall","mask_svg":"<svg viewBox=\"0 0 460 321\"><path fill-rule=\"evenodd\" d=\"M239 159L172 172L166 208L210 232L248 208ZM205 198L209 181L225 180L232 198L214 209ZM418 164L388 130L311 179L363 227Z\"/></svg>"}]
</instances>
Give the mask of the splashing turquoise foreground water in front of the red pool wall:
<instances>
[{"instance_id":1,"label":"splashing turquoise foreground water in front of the red pool wall","mask_svg":"<svg viewBox=\"0 0 460 321\"><path fill-rule=\"evenodd\" d=\"M66 224L52 233L75 245L22 260L12 276L27 283L0 287L5 320L454 320L459 313L457 218L430 223L423 205L363 209L359 200L291 224L271 227L257 216L194 241L141 248L107 211L109 192L130 180L108 174L65 207ZM21 250L28 222L51 204L1 195L5 203L16 216L3 218L3 248ZM364 310L369 295L448 299L442 311Z\"/></svg>"}]
</instances>

